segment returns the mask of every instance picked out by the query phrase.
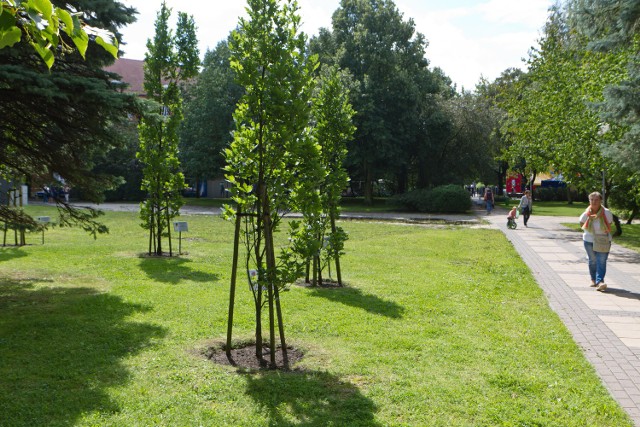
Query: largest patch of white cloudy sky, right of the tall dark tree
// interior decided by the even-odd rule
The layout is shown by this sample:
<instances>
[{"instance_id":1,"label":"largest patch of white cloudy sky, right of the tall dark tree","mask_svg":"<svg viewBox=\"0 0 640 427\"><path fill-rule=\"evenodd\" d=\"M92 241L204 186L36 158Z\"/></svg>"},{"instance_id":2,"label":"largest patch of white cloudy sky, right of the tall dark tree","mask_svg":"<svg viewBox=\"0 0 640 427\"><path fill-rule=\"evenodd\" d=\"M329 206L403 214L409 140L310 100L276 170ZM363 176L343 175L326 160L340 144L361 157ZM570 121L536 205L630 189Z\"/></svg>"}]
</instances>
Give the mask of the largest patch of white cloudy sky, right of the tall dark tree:
<instances>
[{"instance_id":1,"label":"largest patch of white cloudy sky, right of the tall dark tree","mask_svg":"<svg viewBox=\"0 0 640 427\"><path fill-rule=\"evenodd\" d=\"M522 58L537 44L551 3L489 0L456 7L455 2L435 0L396 2L405 19L412 17L416 30L429 40L431 65L467 90L474 89L481 76L493 80L507 68L525 68Z\"/></svg>"}]
</instances>

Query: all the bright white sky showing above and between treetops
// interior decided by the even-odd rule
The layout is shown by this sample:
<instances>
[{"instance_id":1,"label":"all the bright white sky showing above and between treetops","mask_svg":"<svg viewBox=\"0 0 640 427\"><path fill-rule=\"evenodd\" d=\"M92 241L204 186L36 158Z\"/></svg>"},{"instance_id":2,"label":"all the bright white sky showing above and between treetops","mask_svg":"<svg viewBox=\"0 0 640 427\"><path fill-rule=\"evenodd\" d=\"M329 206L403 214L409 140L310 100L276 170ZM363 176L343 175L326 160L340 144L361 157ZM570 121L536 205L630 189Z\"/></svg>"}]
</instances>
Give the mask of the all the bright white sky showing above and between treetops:
<instances>
[{"instance_id":1,"label":"all the bright white sky showing above and between treetops","mask_svg":"<svg viewBox=\"0 0 640 427\"><path fill-rule=\"evenodd\" d=\"M162 0L120 0L138 10L138 21L120 30L126 45L123 58L144 59L147 39ZM193 15L199 49L204 55L233 30L245 15L244 0L166 0L175 27L178 12ZM473 90L481 77L493 81L507 68L524 69L523 59L542 34L548 9L555 0L395 0L405 21L429 42L426 57L440 67L458 89ZM315 35L331 28L340 0L298 0L302 30Z\"/></svg>"}]
</instances>

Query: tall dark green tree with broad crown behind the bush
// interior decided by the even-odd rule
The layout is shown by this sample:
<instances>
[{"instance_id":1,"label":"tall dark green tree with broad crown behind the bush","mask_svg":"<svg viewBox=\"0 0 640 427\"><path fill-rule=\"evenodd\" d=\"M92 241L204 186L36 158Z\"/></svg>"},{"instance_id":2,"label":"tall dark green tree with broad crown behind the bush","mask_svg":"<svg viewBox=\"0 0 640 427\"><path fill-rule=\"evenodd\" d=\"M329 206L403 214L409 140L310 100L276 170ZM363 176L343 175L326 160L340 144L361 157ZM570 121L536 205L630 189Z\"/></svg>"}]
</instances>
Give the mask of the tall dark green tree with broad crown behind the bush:
<instances>
[{"instance_id":1,"label":"tall dark green tree with broad crown behind the bush","mask_svg":"<svg viewBox=\"0 0 640 427\"><path fill-rule=\"evenodd\" d=\"M357 111L349 144L352 178L364 182L369 201L378 179L405 190L422 101L440 89L428 70L424 36L391 0L342 0L333 15L333 38L321 36L313 46L324 49L322 58L337 61L358 82L351 97Z\"/></svg>"}]
</instances>

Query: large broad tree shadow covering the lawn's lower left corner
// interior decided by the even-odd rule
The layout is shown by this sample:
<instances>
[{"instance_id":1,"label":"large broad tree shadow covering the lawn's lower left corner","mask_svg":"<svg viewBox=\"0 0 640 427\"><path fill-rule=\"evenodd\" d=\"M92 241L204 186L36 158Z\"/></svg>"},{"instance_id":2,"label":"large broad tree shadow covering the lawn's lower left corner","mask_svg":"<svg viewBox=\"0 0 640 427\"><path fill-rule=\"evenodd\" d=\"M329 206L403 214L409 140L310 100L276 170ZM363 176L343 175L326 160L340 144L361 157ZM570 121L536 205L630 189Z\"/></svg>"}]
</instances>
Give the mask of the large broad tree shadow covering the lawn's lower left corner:
<instances>
[{"instance_id":1,"label":"large broad tree shadow covering the lawn's lower left corner","mask_svg":"<svg viewBox=\"0 0 640 427\"><path fill-rule=\"evenodd\" d=\"M89 288L34 289L0 279L0 424L72 426L119 411L107 389L125 384L122 360L165 335L127 318L146 307Z\"/></svg>"}]
</instances>

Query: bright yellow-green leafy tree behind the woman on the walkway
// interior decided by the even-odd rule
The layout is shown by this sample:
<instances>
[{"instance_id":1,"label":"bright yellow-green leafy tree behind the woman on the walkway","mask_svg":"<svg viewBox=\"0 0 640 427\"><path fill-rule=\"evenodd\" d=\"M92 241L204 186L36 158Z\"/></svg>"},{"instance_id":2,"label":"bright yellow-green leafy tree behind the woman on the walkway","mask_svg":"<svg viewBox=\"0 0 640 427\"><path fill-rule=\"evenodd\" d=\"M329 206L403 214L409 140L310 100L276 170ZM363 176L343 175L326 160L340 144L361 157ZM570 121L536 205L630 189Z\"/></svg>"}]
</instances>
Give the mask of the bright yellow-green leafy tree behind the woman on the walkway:
<instances>
[{"instance_id":1,"label":"bright yellow-green leafy tree behind the woman on the walkway","mask_svg":"<svg viewBox=\"0 0 640 427\"><path fill-rule=\"evenodd\" d=\"M512 158L525 156L538 170L561 172L578 189L600 188L604 174L606 201L633 172L603 155L603 147L625 130L604 123L593 107L602 102L606 85L624 78L627 56L586 46L587 40L567 25L566 13L555 8L539 48L531 53L526 79L505 98L504 131L513 142Z\"/></svg>"}]
</instances>

